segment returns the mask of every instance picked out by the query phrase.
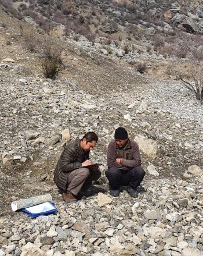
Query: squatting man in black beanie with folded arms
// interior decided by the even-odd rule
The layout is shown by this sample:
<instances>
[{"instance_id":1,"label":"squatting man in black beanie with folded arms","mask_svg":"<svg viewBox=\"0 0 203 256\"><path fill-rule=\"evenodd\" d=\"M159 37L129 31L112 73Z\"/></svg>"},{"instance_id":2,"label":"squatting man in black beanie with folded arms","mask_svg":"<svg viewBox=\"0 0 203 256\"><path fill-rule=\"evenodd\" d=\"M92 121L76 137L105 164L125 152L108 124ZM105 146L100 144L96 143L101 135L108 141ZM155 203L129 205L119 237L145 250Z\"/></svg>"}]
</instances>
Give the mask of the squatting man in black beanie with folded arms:
<instances>
[{"instance_id":1,"label":"squatting man in black beanie with folded arms","mask_svg":"<svg viewBox=\"0 0 203 256\"><path fill-rule=\"evenodd\" d=\"M118 197L120 186L128 186L131 197L137 197L136 188L142 182L145 172L141 165L140 151L135 140L129 140L128 132L118 127L115 140L108 144L106 176L110 186L110 194Z\"/></svg>"}]
</instances>

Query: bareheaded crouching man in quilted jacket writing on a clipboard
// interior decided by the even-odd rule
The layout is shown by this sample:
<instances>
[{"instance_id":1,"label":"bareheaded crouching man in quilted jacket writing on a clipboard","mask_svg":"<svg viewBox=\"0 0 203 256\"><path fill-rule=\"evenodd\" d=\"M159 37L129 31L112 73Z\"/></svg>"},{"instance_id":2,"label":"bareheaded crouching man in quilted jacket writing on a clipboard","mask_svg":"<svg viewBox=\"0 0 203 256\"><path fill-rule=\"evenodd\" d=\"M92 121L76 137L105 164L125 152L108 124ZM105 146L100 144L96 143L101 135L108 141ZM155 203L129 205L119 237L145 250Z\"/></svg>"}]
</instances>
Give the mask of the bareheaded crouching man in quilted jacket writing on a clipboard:
<instances>
[{"instance_id":1,"label":"bareheaded crouching man in quilted jacket writing on a clipboard","mask_svg":"<svg viewBox=\"0 0 203 256\"><path fill-rule=\"evenodd\" d=\"M93 180L101 176L99 166L92 165L89 152L97 144L98 137L92 131L85 134L82 140L67 144L57 162L54 181L66 202L76 201L79 192L89 189Z\"/></svg>"}]
</instances>

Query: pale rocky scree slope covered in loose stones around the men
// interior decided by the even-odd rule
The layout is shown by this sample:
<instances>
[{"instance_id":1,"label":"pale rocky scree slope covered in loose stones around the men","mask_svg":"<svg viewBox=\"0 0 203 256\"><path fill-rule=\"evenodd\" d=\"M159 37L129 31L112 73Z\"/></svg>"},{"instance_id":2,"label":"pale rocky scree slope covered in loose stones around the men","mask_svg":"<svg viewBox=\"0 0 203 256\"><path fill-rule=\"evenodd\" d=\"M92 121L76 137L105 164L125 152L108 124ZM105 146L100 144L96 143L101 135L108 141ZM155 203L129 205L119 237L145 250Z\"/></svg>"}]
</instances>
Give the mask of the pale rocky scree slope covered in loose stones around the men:
<instances>
[{"instance_id":1,"label":"pale rocky scree slope covered in loose stones around the men","mask_svg":"<svg viewBox=\"0 0 203 256\"><path fill-rule=\"evenodd\" d=\"M2 45L0 256L203 255L203 107L193 95L78 44L64 52L58 79L44 79L34 54L15 40ZM146 176L136 199L125 188L118 198L108 194L106 149L118 126L142 153ZM64 143L89 130L99 136L90 158L102 163L102 178L66 204L53 169ZM56 215L12 212L10 202L45 193Z\"/></svg>"}]
</instances>

